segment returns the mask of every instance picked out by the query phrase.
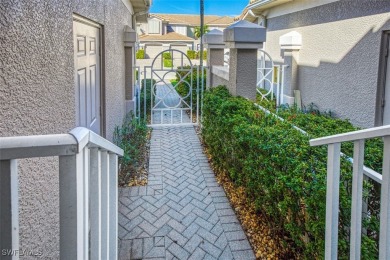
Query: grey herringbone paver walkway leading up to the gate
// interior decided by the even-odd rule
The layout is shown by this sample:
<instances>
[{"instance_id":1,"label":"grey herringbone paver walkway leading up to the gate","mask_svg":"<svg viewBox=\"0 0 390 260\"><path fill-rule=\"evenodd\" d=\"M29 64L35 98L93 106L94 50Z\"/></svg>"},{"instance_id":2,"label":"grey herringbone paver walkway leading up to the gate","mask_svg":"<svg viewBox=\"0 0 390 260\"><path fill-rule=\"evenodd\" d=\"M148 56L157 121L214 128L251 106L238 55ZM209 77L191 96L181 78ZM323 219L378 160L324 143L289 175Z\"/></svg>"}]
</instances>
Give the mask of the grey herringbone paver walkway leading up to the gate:
<instances>
[{"instance_id":1,"label":"grey herringbone paver walkway leading up to the gate","mask_svg":"<svg viewBox=\"0 0 390 260\"><path fill-rule=\"evenodd\" d=\"M193 127L155 128L149 183L120 190L120 259L254 259Z\"/></svg>"}]
</instances>

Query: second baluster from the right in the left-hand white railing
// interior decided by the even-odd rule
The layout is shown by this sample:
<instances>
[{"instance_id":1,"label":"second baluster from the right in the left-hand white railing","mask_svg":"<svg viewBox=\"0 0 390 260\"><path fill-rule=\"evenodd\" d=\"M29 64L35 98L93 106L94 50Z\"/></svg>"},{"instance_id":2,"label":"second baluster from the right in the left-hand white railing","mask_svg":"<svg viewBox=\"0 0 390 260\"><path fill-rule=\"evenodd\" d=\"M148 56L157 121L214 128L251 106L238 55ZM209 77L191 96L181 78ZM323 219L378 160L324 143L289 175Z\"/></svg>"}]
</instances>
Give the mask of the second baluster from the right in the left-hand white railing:
<instances>
[{"instance_id":1,"label":"second baluster from the right in the left-hand white railing","mask_svg":"<svg viewBox=\"0 0 390 260\"><path fill-rule=\"evenodd\" d=\"M109 164L110 158L107 151L101 151L102 160L102 185L101 185L101 196L102 196L102 259L109 259Z\"/></svg>"}]
</instances>

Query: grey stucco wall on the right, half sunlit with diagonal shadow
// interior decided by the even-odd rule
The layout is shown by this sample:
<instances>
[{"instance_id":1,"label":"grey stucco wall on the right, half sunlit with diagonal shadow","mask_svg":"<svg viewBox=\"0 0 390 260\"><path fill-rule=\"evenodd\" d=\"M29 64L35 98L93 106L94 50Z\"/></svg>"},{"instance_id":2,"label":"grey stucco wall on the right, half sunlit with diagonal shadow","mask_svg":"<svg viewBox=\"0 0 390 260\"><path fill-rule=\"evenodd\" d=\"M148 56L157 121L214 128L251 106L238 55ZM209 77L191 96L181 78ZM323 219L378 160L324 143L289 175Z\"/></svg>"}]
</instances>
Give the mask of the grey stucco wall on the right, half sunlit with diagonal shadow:
<instances>
[{"instance_id":1,"label":"grey stucco wall on the right, half sunlit with diagonal shadow","mask_svg":"<svg viewBox=\"0 0 390 260\"><path fill-rule=\"evenodd\" d=\"M266 51L283 62L279 37L302 34L297 86L302 102L374 126L380 40L390 30L388 1L341 0L267 21Z\"/></svg>"}]
</instances>

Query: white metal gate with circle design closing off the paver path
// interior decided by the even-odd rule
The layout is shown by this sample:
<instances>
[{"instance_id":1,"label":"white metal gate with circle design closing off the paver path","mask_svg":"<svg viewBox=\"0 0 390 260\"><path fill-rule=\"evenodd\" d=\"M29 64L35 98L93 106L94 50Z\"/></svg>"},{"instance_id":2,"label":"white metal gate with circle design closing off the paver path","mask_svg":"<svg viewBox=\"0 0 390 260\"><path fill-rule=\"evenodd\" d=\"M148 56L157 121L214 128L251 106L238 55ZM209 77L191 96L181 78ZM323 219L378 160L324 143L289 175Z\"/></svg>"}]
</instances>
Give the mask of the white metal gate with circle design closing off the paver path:
<instances>
[{"instance_id":1,"label":"white metal gate with circle design closing off the paver path","mask_svg":"<svg viewBox=\"0 0 390 260\"><path fill-rule=\"evenodd\" d=\"M141 114L149 125L195 125L199 123L203 71L180 50L160 52L144 67L141 83Z\"/></svg>"}]
</instances>

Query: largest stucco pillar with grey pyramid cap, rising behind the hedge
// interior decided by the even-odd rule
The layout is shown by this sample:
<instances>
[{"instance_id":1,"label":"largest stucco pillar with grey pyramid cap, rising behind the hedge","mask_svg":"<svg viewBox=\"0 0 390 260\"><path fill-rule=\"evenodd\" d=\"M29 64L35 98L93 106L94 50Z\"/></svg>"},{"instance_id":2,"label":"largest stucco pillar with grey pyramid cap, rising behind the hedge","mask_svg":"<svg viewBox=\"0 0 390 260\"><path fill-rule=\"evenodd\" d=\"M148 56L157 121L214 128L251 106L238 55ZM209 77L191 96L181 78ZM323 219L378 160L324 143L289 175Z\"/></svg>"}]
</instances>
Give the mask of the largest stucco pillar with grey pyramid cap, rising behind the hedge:
<instances>
[{"instance_id":1,"label":"largest stucco pillar with grey pyramid cap, rising behind the hedge","mask_svg":"<svg viewBox=\"0 0 390 260\"><path fill-rule=\"evenodd\" d=\"M265 42L265 28L240 21L226 28L223 36L226 48L230 49L230 93L256 100L257 50Z\"/></svg>"}]
</instances>

